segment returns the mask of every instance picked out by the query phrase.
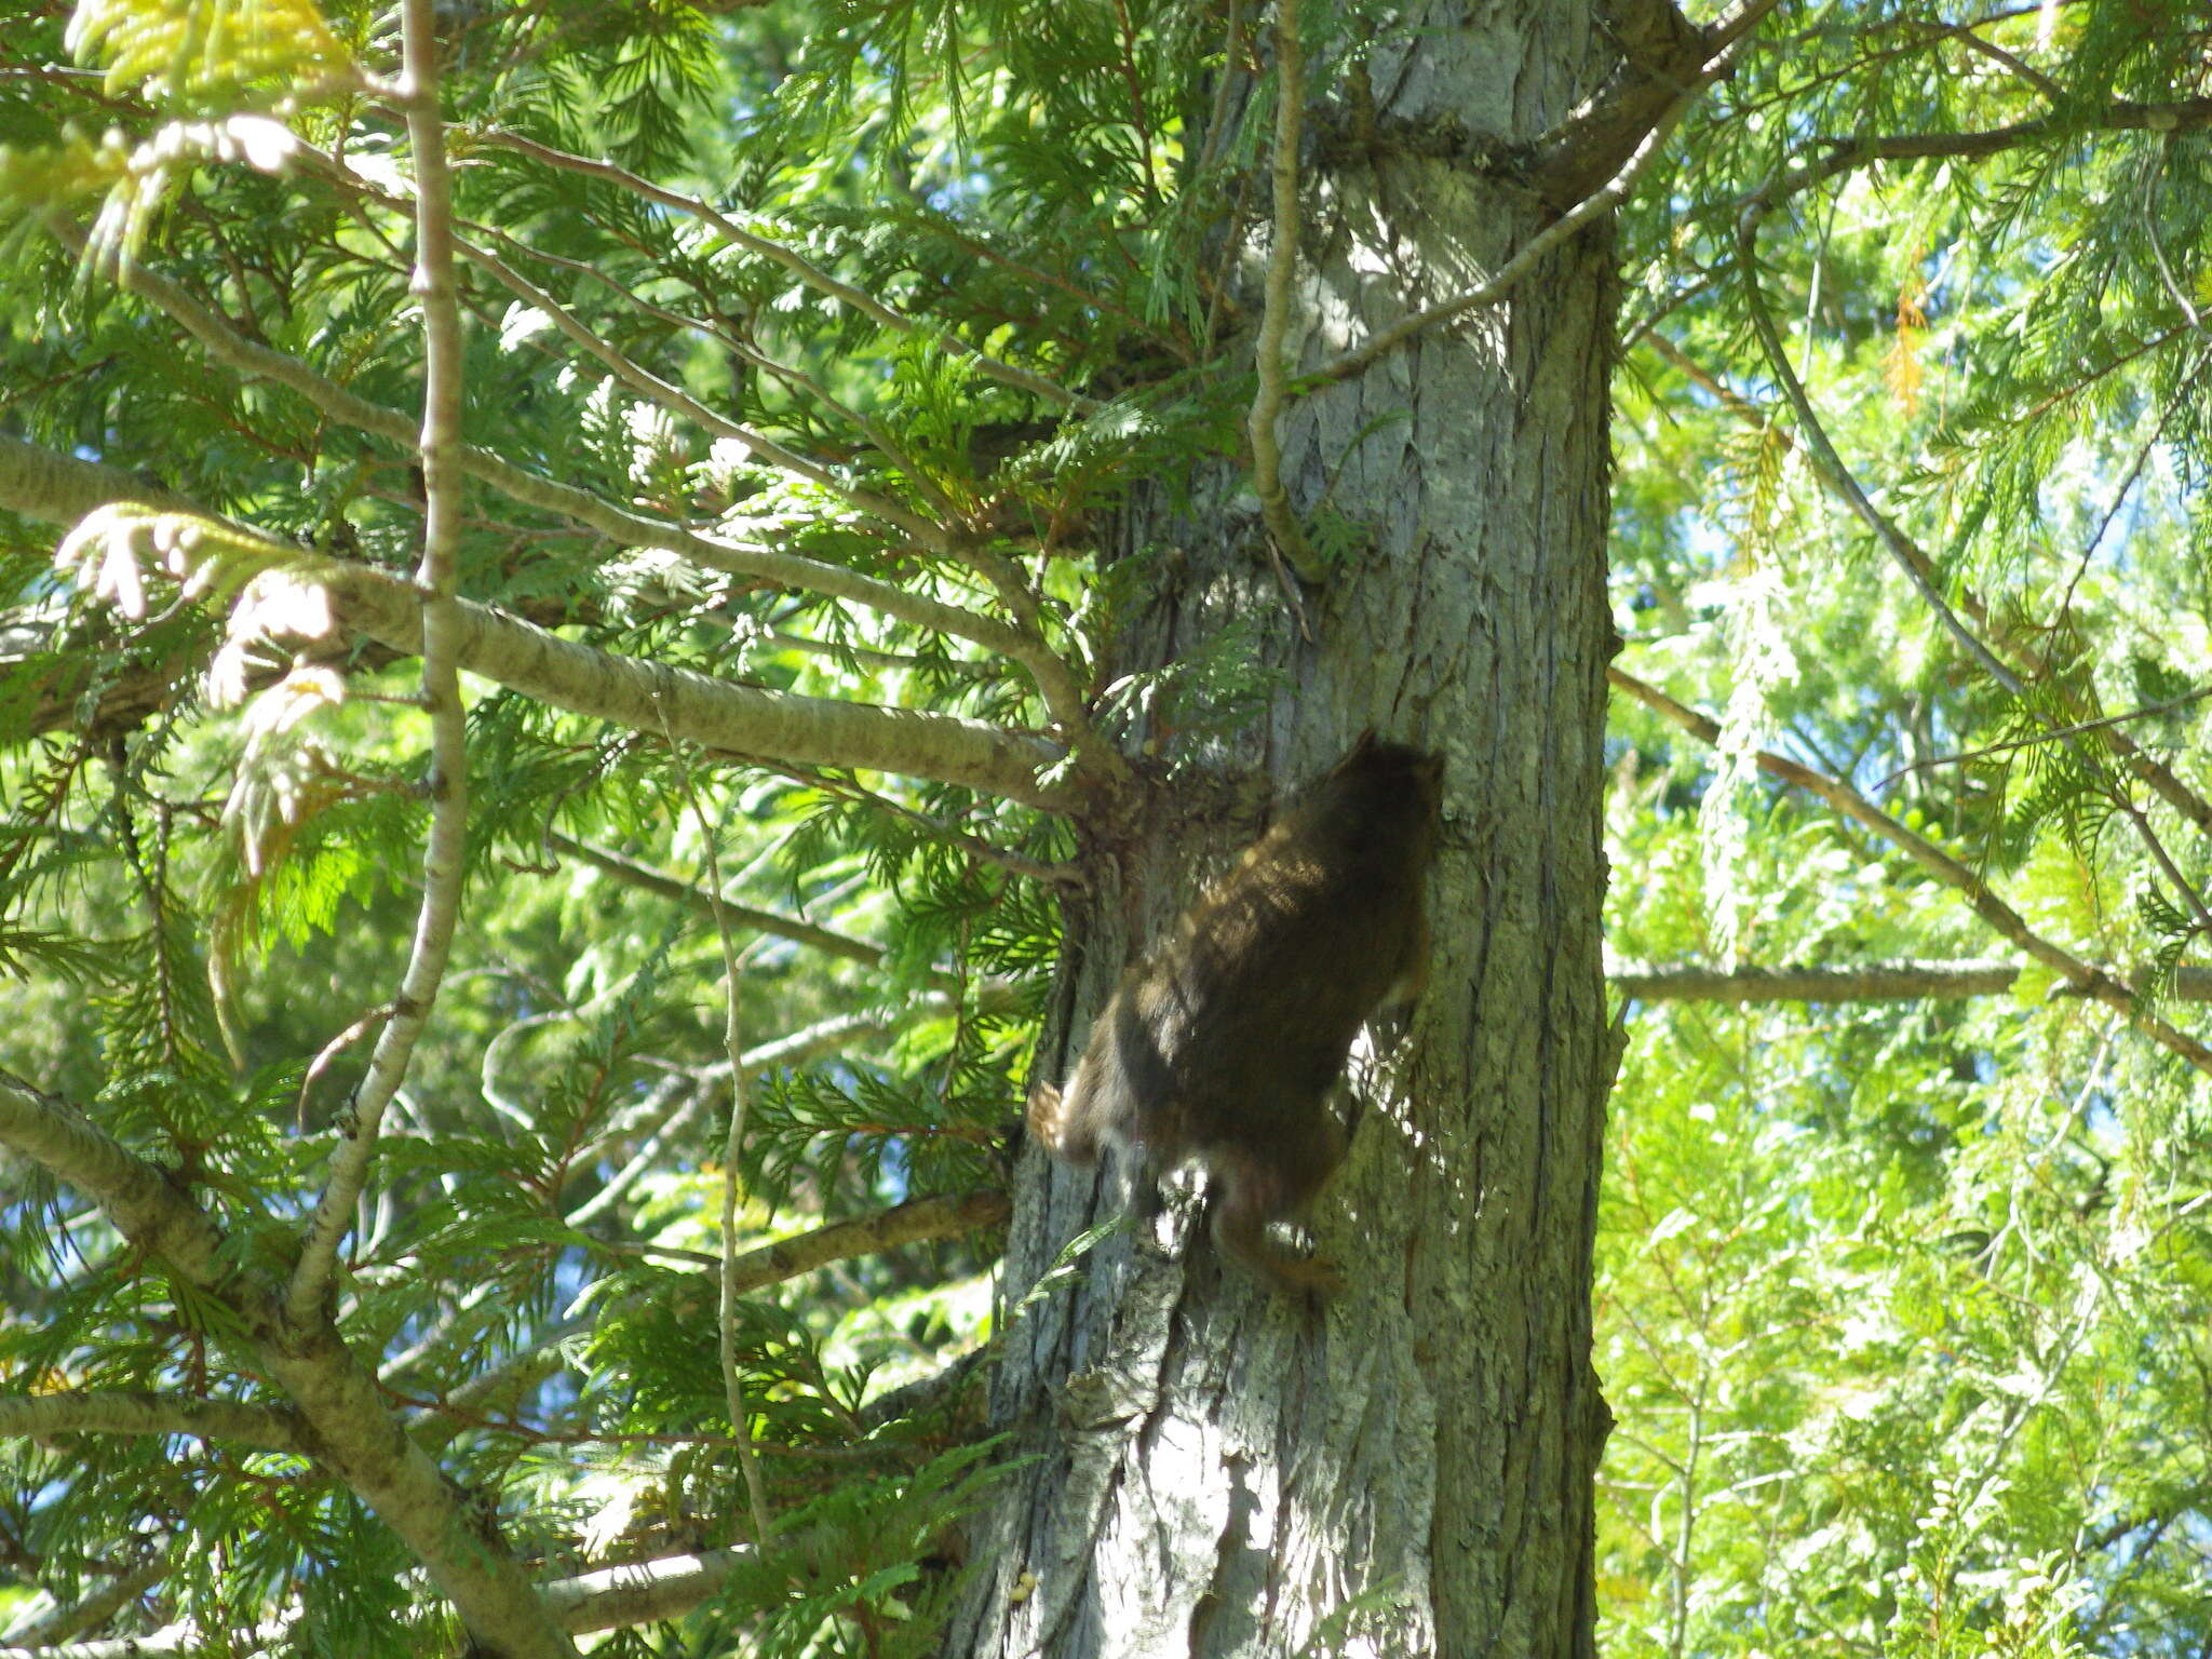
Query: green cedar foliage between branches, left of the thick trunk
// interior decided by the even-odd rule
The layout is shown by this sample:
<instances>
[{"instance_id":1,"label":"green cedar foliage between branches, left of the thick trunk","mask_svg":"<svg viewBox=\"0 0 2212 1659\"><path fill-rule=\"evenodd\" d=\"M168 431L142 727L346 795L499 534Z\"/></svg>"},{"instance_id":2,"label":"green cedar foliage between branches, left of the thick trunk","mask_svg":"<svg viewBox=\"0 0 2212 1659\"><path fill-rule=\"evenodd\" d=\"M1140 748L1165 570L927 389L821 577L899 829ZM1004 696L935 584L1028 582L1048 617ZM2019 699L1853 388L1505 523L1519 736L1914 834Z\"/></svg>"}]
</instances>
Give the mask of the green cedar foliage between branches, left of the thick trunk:
<instances>
[{"instance_id":1,"label":"green cedar foliage between branches, left of the thick trunk","mask_svg":"<svg viewBox=\"0 0 2212 1659\"><path fill-rule=\"evenodd\" d=\"M971 544L1035 591L1044 644L1077 666L1097 653L1088 524L1219 418L1219 387L1155 392L1117 369L1190 363L1206 314L1179 288L1188 272L1152 257L1194 15L1124 29L1084 13L1053 40L836 7L440 18L460 234L765 440L675 418L465 261L471 442L644 522L1004 619ZM343 1146L407 960L429 823L414 664L319 648L285 670L292 622L248 584L409 571L418 480L405 447L210 354L113 279L159 272L239 349L411 422L411 157L378 102L400 69L394 20L369 4L115 0L77 7L66 40L44 18L11 31L0 75L7 431L254 531L115 509L58 571L51 535L0 522L11 619L51 641L9 646L0 672L0 973L22 1011L0 1029L0 1066L166 1170L226 1228L241 1274L288 1272ZM82 69L44 69L69 53ZM1133 113L1130 62L1159 113ZM502 135L606 157L706 210L551 168ZM1126 186L1146 177L1133 208ZM91 254L46 237L44 215L77 215ZM1121 378L1071 414L993 380L978 352L1073 385ZM878 513L898 511L956 520L967 540L891 535ZM779 695L1046 726L1031 675L956 635L613 542L484 484L465 513L462 591L566 639ZM201 679L210 659L228 686ZM1002 1186L1060 929L1046 889L1006 865L1064 860L1068 830L973 790L759 770L493 686L467 697L465 922L345 1243L336 1325L540 1577L750 1528L732 1436L757 1444L774 1546L714 1606L619 1650L719 1632L759 1652L920 1652L958 1582L947 1528L1000 1464L962 1444L971 1407L867 1429L860 1413L987 1340L991 1241L936 1239L750 1292L734 1310L750 1420L732 1425L712 1267L723 1004L765 1055L748 1060L750 1126L728 1172L737 1250ZM799 931L741 925L734 987L703 898L708 838L726 896ZM854 945L823 953L810 929ZM230 1305L139 1261L82 1192L7 1164L0 1210L7 1394L276 1405ZM456 1402L462 1389L480 1391ZM314 1462L188 1436L73 1433L0 1455L9 1559L35 1562L53 1597L82 1599L102 1566L150 1553L161 1617L208 1632L274 1621L290 1648L356 1655L453 1639L422 1613L422 1564ZM0 1588L0 1619L24 1604Z\"/></svg>"}]
</instances>

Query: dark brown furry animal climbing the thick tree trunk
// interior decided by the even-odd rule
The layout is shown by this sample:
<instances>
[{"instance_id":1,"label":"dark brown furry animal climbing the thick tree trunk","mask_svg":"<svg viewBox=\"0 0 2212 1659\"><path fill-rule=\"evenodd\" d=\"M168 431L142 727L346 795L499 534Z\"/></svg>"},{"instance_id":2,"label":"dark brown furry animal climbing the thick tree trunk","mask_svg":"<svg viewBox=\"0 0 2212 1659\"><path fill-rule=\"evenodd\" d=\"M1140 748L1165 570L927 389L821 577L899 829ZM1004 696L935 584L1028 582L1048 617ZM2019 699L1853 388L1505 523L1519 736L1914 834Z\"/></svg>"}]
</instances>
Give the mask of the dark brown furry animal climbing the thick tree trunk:
<instances>
[{"instance_id":1,"label":"dark brown furry animal climbing the thick tree trunk","mask_svg":"<svg viewBox=\"0 0 2212 1659\"><path fill-rule=\"evenodd\" d=\"M1121 975L1066 1088L1031 1091L1046 1150L1088 1166L1099 1144L1133 1148L1139 1192L1201 1159L1214 1243L1283 1290L1340 1290L1267 1225L1303 1214L1345 1157L1327 1093L1352 1037L1420 989L1442 770L1369 732L1316 781Z\"/></svg>"}]
</instances>

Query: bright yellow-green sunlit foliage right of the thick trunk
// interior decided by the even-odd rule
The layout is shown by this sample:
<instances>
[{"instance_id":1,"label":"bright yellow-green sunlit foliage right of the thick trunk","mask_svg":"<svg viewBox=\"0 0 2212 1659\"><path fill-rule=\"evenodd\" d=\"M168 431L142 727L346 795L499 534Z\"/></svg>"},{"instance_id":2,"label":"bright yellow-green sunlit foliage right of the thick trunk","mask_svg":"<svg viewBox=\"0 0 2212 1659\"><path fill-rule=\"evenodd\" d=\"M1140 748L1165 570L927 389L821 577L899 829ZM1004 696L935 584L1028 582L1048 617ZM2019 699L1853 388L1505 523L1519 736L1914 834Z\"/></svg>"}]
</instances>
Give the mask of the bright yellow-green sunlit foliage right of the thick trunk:
<instances>
[{"instance_id":1,"label":"bright yellow-green sunlit foliage right of the thick trunk","mask_svg":"<svg viewBox=\"0 0 2212 1659\"><path fill-rule=\"evenodd\" d=\"M2212 785L2185 314L2205 146L2108 108L2194 88L2201 20L1876 4L1792 11L1783 38L1628 221L1621 666L1858 790L2201 1033L2174 991L2212 874L2185 810ZM1759 188L1754 292L1734 237ZM2015 684L1807 462L1754 303ZM2020 960L1896 845L1615 708L1621 958ZM2212 1170L2177 1126L2205 1079L2022 967L2000 998L1630 1006L1599 1230L1608 1652L2203 1648L2181 1425L2208 1409Z\"/></svg>"}]
</instances>

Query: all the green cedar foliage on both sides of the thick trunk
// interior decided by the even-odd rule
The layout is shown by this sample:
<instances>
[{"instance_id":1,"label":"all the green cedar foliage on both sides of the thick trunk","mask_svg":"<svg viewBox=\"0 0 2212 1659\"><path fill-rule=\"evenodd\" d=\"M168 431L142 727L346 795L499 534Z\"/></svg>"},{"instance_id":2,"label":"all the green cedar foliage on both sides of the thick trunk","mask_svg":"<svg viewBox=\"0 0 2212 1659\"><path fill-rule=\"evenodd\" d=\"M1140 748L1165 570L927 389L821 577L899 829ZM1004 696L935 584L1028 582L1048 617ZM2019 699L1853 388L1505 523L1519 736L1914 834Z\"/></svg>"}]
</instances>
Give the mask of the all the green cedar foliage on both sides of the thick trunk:
<instances>
[{"instance_id":1,"label":"all the green cedar foliage on both sides of the thick trunk","mask_svg":"<svg viewBox=\"0 0 2212 1659\"><path fill-rule=\"evenodd\" d=\"M465 261L471 440L648 520L993 611L984 566L883 509L960 522L1035 584L1033 622L1082 679L1146 580L1141 560L1093 568L1091 526L1128 480L1234 449L1248 396L1223 374L1250 319L1221 223L1252 212L1265 97L1212 128L1214 82L1250 53L1225 38L1239 18L1141 0L453 7L462 232L812 476L624 385ZM2203 825L2055 732L2128 717L2208 787L2208 53L2179 0L1940 22L1785 4L1644 179L1617 376L1624 666L1721 710L1730 752L1619 710L1621 956L1995 949L1891 847L1754 781L1734 752L1763 745L1878 796L2068 949L2143 967L2146 1002L2188 1022L2161 998L2166 969L2203 960ZM210 363L113 281L144 261L246 338L411 411L407 164L345 64L394 71L385 9L88 0L11 20L0 429L405 571L420 513L403 449ZM270 115L345 170L305 153L263 170L272 139L241 117ZM706 199L916 327L498 135ZM1772 210L1745 261L1750 192ZM51 212L102 215L95 252L66 252ZM975 352L1091 403L991 378ZM2013 686L1836 504L1783 367ZM781 692L1048 721L1033 681L971 641L480 484L469 502L462 591L566 637ZM27 628L0 661L0 1066L168 1168L241 1259L281 1252L365 1048L310 1060L405 960L427 818L411 664L365 650L341 699L263 661L241 719L199 681L219 608L164 593L124 622L55 577L53 540L0 515L0 595ZM80 677L53 721L40 697L64 668ZM157 697L102 717L155 670ZM1088 690L1106 737L1135 745L1152 723L1234 728L1265 686L1230 637ZM971 790L745 765L482 684L469 757L467 920L338 1325L540 1577L726 1542L745 1515L699 1256L728 1108L719 947L697 905L553 838L695 889L712 843L732 898L883 951L748 945L748 1042L874 1024L752 1079L745 1243L1004 1181L998 1130L1057 940L1051 896L984 852L1057 863L1075 841ZM1628 1011L1597 1285L1621 1420L1613 1650L2212 1641L2205 1084L2051 989L2031 971L1989 1004ZM0 1394L274 1400L223 1310L82 1194L9 1161L0 1203ZM993 1449L971 1398L872 1402L1018 1312L993 1307L989 1259L989 1237L947 1241L745 1298L745 1429L779 1542L681 1624L602 1652L929 1648L951 1524ZM274 1626L347 1655L451 1639L418 1564L310 1458L66 1433L0 1440L0 1615L24 1626L155 1562L104 1632Z\"/></svg>"}]
</instances>

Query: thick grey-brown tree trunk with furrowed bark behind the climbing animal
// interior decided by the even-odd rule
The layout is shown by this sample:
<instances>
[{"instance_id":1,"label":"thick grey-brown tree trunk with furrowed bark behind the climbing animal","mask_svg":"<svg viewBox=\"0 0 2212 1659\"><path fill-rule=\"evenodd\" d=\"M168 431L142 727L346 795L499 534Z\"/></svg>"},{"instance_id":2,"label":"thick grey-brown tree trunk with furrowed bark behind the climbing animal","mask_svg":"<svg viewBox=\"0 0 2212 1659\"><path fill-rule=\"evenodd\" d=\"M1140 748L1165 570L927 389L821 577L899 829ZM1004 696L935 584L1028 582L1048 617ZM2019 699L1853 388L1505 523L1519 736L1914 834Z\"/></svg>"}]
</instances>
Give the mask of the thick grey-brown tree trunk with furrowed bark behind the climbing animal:
<instances>
[{"instance_id":1,"label":"thick grey-brown tree trunk with furrowed bark behind the climbing animal","mask_svg":"<svg viewBox=\"0 0 2212 1659\"><path fill-rule=\"evenodd\" d=\"M1371 137L1347 113L1360 58ZM1562 122L1606 66L1577 0L1436 7L1367 53L1316 53L1292 365L1498 270L1544 219L1464 157ZM1181 661L1263 619L1281 679L1237 741L1279 796L1369 726L1444 752L1429 982L1380 1057L1354 1057L1352 1155L1314 1219L1349 1279L1325 1314L1223 1263L1190 1197L1015 1314L993 1413L1035 1462L975 1528L947 1652L1294 1655L1332 1632L1376 1655L1593 1650L1610 327L1599 221L1504 305L1292 405L1292 504L1360 549L1303 595L1310 639L1245 484L1217 478L1183 518L1161 495L1130 509L1126 553L1155 580L1121 648ZM1190 810L1206 801L1170 783L1095 860L1077 1018L1042 1075L1066 1075L1126 956L1252 834L1217 794ZM1110 1168L1031 1152L1009 1307L1117 1201Z\"/></svg>"}]
</instances>

